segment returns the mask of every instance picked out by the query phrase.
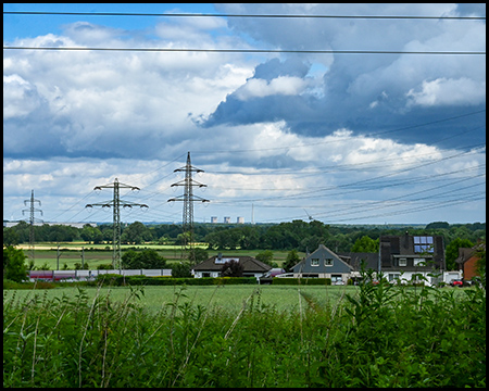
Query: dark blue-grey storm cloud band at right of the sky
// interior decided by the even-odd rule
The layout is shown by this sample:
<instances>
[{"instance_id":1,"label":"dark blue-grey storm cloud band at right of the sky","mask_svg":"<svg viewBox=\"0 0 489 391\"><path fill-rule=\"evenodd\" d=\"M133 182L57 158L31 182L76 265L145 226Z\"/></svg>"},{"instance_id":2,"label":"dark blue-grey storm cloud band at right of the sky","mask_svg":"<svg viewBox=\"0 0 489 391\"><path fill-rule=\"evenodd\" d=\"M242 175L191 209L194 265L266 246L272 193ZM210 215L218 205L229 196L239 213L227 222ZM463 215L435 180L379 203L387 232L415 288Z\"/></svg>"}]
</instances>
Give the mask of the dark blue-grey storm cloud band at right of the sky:
<instances>
[{"instance_id":1,"label":"dark blue-grey storm cloud band at right of the sky","mask_svg":"<svg viewBox=\"0 0 489 391\"><path fill-rule=\"evenodd\" d=\"M304 77L309 68L298 60L280 62L273 59L258 65L254 76L247 81L269 81L279 76ZM211 128L285 121L290 131L309 137L331 135L346 127L356 135L374 134L405 143L443 142L446 148L456 148L485 142L485 128L481 127L485 104L414 106L408 110L405 93L401 94L397 88L390 88L389 96L376 91L372 96L348 93L349 83L339 73L331 71L325 75L321 98L303 93L242 100L237 92L230 93L201 126ZM371 102L375 102L374 108ZM471 142L463 141L467 140L467 135Z\"/></svg>"}]
</instances>

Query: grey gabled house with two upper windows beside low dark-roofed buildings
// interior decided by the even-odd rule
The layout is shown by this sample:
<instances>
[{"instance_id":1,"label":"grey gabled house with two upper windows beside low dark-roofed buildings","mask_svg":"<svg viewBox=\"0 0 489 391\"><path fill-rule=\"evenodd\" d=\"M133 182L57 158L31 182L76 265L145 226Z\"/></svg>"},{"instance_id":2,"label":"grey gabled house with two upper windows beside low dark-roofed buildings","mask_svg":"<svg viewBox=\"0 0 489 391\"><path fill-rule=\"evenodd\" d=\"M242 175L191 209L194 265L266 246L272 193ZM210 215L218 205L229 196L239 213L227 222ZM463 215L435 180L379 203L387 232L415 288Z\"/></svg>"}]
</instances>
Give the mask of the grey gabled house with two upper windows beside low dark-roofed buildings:
<instances>
[{"instance_id":1,"label":"grey gabled house with two upper windows beside low dark-roofed buildings","mask_svg":"<svg viewBox=\"0 0 489 391\"><path fill-rule=\"evenodd\" d=\"M324 244L292 267L294 278L330 278L331 283L347 283L353 266Z\"/></svg>"}]
</instances>

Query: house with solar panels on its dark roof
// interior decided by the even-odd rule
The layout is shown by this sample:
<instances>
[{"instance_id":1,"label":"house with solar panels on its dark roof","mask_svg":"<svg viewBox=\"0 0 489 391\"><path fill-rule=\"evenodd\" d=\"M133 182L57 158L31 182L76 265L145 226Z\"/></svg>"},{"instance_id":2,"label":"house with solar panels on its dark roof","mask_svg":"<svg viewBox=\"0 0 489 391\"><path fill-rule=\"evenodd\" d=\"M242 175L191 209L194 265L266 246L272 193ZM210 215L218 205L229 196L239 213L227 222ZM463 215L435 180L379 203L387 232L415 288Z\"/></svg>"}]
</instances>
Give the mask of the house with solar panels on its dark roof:
<instances>
[{"instance_id":1,"label":"house with solar panels on its dark roof","mask_svg":"<svg viewBox=\"0 0 489 391\"><path fill-rule=\"evenodd\" d=\"M434 272L446 269L442 236L409 235L380 236L378 270L389 281L402 278L416 280L422 275L429 285L441 281Z\"/></svg>"}]
</instances>

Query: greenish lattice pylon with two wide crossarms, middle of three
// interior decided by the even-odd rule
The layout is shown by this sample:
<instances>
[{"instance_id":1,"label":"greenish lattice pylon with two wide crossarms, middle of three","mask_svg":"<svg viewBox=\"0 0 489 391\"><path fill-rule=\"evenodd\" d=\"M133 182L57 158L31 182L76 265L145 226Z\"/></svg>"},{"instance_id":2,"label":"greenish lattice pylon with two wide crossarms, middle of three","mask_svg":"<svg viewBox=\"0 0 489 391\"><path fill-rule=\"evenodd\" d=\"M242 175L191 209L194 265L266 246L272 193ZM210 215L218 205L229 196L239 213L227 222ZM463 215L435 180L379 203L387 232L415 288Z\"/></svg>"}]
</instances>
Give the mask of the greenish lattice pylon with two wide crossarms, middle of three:
<instances>
[{"instance_id":1,"label":"greenish lattice pylon with two wide crossarms, middle of three","mask_svg":"<svg viewBox=\"0 0 489 391\"><path fill-rule=\"evenodd\" d=\"M115 178L113 184L108 184L103 186L96 186L93 190L102 190L102 189L114 189L114 199L112 201L105 201L100 203L87 204L85 207L93 207L93 206L102 206L102 207L113 207L114 210L114 236L112 240L112 245L114 248L114 253L112 255L112 267L115 269L118 266L118 269L122 269L121 266L121 206L123 207L148 207L146 204L138 204L135 202L128 202L121 200L120 198L120 189L130 189L130 190L139 190L136 186L121 184L117 178Z\"/></svg>"}]
</instances>

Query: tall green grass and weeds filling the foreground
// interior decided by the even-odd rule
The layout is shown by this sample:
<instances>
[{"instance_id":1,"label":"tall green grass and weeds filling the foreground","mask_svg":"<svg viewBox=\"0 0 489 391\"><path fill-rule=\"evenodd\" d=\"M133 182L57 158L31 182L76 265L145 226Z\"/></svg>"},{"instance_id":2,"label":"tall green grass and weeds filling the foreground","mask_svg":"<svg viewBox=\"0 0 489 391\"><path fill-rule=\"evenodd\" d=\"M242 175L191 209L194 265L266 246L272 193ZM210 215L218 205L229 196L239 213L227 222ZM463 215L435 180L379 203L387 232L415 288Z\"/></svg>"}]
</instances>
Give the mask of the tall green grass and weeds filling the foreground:
<instances>
[{"instance_id":1,"label":"tall green grass and weeds filling the foreground","mask_svg":"<svg viewBox=\"0 0 489 391\"><path fill-rule=\"evenodd\" d=\"M300 288L303 311L264 304L260 287L239 311L180 287L156 313L143 287L124 301L4 291L3 386L486 386L485 288L365 283L335 301Z\"/></svg>"}]
</instances>

